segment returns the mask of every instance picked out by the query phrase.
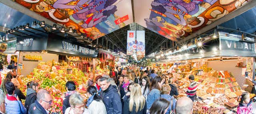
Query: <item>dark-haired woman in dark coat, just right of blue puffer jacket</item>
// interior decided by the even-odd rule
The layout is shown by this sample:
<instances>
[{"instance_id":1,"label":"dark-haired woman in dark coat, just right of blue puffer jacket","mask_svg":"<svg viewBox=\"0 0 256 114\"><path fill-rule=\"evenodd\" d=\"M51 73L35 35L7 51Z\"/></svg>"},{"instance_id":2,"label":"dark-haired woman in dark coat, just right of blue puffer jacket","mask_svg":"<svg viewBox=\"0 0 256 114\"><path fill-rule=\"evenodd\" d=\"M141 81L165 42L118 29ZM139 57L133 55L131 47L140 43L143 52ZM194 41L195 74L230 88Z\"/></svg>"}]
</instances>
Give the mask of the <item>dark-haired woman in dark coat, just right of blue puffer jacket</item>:
<instances>
[{"instance_id":1,"label":"dark-haired woman in dark coat, just right of blue puffer jacket","mask_svg":"<svg viewBox=\"0 0 256 114\"><path fill-rule=\"evenodd\" d=\"M27 95L25 100L25 108L28 110L30 104L36 100L36 91L38 91L38 83L36 81L30 81L27 83Z\"/></svg>"}]
</instances>

